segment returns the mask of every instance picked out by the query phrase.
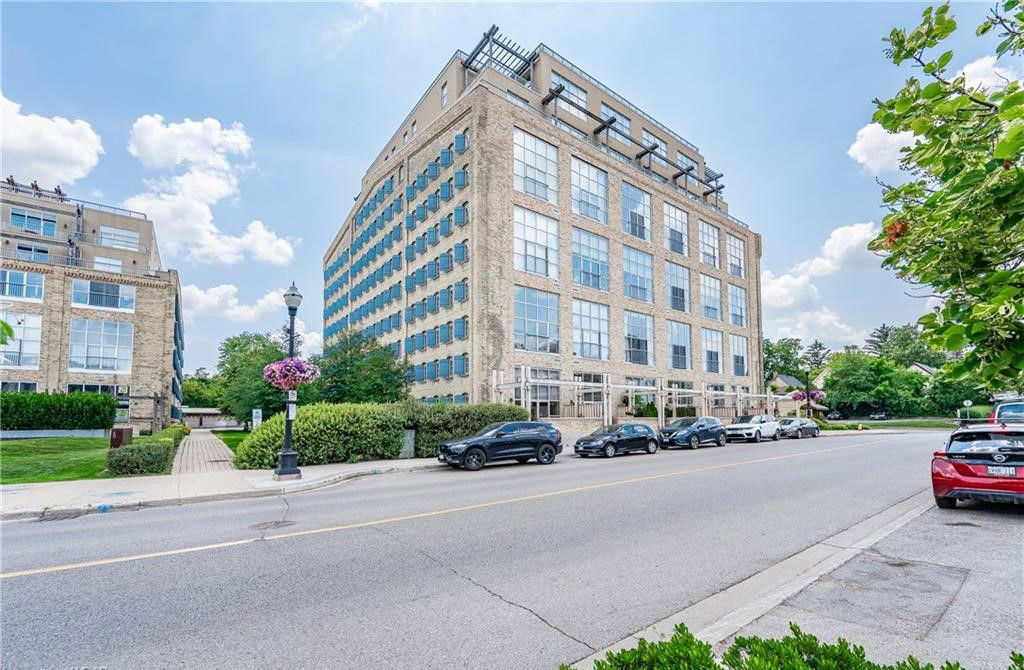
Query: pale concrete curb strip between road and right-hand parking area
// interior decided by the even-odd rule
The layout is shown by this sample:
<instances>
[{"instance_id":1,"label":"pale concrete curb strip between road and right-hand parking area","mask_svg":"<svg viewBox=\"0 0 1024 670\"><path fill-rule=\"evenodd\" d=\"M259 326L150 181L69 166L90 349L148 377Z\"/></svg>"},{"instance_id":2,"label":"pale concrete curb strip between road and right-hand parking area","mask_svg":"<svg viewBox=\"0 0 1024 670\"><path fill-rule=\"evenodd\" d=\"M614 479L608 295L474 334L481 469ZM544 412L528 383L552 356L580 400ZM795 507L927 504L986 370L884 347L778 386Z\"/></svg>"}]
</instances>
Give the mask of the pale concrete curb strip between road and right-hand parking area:
<instances>
[{"instance_id":1,"label":"pale concrete curb strip between road and right-hand parking area","mask_svg":"<svg viewBox=\"0 0 1024 670\"><path fill-rule=\"evenodd\" d=\"M697 639L717 644L910 522L934 504L932 490L921 491L724 591L577 661L571 667L591 670L594 661L604 659L609 652L631 648L641 639L648 642L668 639L680 623L686 624Z\"/></svg>"}]
</instances>

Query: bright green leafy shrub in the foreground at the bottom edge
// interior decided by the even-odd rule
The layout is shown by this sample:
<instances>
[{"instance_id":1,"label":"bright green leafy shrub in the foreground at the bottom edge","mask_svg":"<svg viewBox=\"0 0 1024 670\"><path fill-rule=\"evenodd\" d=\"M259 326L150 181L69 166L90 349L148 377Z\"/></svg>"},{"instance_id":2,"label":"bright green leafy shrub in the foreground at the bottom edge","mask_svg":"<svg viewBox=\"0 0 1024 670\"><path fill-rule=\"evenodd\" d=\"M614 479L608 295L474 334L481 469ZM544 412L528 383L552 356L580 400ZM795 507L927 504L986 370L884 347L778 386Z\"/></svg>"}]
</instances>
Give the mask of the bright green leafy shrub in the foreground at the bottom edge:
<instances>
[{"instance_id":1,"label":"bright green leafy shrub in the foreground at the bottom edge","mask_svg":"<svg viewBox=\"0 0 1024 670\"><path fill-rule=\"evenodd\" d=\"M790 624L792 633L781 639L737 637L722 655L715 659L711 644L696 639L686 626L676 626L675 634L664 641L640 640L636 646L608 654L594 663L594 670L935 670L930 663L913 657L893 665L869 661L862 646L845 639L822 643ZM965 670L959 664L947 662L942 670ZM1024 656L1010 655L1009 670L1024 670ZM568 670L562 665L561 670Z\"/></svg>"}]
</instances>

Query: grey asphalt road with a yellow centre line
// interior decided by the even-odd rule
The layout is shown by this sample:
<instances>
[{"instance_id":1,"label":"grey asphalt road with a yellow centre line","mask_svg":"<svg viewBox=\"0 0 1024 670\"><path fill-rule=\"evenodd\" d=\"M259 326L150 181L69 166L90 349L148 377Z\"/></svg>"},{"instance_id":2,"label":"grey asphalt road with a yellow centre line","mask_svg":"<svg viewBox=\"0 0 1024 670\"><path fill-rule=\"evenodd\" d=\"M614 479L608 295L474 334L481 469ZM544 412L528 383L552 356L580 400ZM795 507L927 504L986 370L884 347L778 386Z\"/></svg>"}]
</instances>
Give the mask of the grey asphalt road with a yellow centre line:
<instances>
[{"instance_id":1,"label":"grey asphalt road with a yellow centre line","mask_svg":"<svg viewBox=\"0 0 1024 670\"><path fill-rule=\"evenodd\" d=\"M941 435L566 453L6 522L2 666L550 669L922 491Z\"/></svg>"}]
</instances>

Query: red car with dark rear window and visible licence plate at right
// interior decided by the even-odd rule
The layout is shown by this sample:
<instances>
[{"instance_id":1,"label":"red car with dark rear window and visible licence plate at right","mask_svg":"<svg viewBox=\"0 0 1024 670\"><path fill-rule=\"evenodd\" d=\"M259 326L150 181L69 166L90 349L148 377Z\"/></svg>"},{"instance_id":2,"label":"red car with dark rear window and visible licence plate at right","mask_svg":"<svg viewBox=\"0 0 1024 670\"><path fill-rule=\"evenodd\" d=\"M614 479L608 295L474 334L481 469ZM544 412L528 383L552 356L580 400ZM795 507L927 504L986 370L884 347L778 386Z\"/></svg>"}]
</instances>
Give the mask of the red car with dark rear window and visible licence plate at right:
<instances>
[{"instance_id":1,"label":"red car with dark rear window and visible licence plate at right","mask_svg":"<svg viewBox=\"0 0 1024 670\"><path fill-rule=\"evenodd\" d=\"M1024 422L967 425L932 458L935 504L957 500L1024 505Z\"/></svg>"}]
</instances>

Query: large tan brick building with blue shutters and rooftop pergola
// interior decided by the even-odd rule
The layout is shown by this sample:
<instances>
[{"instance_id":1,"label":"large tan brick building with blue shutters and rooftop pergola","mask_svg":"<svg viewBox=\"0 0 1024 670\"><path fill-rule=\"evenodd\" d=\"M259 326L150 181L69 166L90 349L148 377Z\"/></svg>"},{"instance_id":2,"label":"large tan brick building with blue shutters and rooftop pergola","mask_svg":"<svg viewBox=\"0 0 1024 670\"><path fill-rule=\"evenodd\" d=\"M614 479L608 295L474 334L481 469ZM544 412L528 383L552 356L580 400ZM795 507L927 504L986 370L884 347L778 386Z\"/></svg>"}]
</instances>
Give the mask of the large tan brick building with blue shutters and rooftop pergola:
<instances>
[{"instance_id":1,"label":"large tan brick building with blue shutters and rooftop pergola","mask_svg":"<svg viewBox=\"0 0 1024 670\"><path fill-rule=\"evenodd\" d=\"M547 46L493 28L367 170L324 257L327 342L352 328L391 345L416 397L514 385L541 416L601 385L708 406L726 396L706 390L762 392L761 241L721 178Z\"/></svg>"}]
</instances>

